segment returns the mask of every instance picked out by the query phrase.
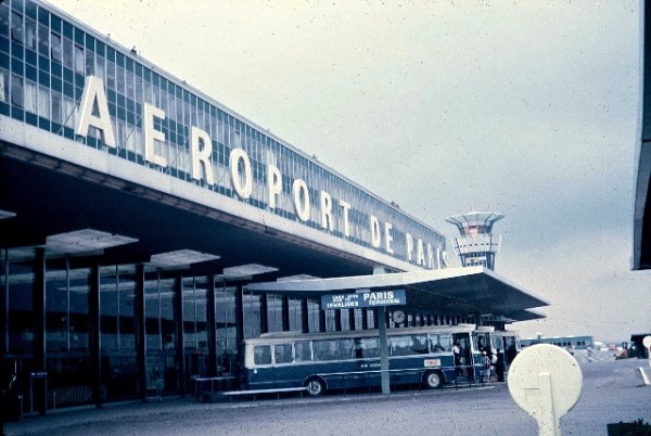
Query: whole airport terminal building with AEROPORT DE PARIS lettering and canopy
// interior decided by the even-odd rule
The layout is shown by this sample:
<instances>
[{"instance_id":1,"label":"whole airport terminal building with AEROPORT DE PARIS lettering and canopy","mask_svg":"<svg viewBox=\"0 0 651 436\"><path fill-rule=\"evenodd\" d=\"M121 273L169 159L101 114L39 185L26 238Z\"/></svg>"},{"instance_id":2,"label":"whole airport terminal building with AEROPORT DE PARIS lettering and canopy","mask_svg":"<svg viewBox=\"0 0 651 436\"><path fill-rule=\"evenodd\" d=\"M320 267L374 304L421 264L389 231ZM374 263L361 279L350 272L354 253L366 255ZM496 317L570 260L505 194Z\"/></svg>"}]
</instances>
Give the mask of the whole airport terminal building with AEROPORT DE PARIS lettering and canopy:
<instances>
[{"instance_id":1,"label":"whole airport terminal building with AEROPORT DE PARIS lettering and canopy","mask_svg":"<svg viewBox=\"0 0 651 436\"><path fill-rule=\"evenodd\" d=\"M322 310L327 293L405 288L388 328L541 317L546 302L445 253L135 51L48 3L0 3L0 350L41 413L154 382L183 395L261 333L376 328L375 309Z\"/></svg>"}]
</instances>

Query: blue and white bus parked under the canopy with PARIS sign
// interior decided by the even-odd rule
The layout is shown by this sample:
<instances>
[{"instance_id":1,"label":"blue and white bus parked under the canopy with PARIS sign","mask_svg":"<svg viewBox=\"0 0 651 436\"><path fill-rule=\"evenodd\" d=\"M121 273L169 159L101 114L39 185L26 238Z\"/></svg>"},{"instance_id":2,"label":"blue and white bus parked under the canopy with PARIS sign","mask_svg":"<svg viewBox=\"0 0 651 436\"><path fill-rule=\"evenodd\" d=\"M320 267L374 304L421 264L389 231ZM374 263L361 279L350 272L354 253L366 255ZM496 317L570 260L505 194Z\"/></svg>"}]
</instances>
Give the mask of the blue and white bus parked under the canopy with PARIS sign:
<instances>
[{"instance_id":1,"label":"blue and white bus parked under the canopy with PARIS sign","mask_svg":"<svg viewBox=\"0 0 651 436\"><path fill-rule=\"evenodd\" d=\"M391 384L434 389L458 377L481 380L482 355L473 346L474 331L474 324L388 330ZM318 396L326 389L381 386L378 330L267 333L245 339L243 347L244 389L306 387ZM454 347L459 351L457 361Z\"/></svg>"}]
</instances>

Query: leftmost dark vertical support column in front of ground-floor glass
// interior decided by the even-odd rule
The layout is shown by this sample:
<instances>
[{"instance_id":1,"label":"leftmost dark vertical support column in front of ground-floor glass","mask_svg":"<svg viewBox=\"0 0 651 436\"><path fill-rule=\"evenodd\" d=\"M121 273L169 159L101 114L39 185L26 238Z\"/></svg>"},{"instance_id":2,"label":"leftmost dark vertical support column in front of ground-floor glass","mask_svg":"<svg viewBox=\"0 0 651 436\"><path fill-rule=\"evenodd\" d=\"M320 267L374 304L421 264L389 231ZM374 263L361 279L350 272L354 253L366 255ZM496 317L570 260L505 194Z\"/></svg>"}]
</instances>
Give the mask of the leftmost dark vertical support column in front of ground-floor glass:
<instances>
[{"instance_id":1,"label":"leftmost dark vertical support column in front of ground-floor glass","mask_svg":"<svg viewBox=\"0 0 651 436\"><path fill-rule=\"evenodd\" d=\"M34 372L46 372L46 251L36 248L34 260L34 290L31 313L34 315ZM48 412L47 379L34 382L34 406L40 414Z\"/></svg>"}]
</instances>

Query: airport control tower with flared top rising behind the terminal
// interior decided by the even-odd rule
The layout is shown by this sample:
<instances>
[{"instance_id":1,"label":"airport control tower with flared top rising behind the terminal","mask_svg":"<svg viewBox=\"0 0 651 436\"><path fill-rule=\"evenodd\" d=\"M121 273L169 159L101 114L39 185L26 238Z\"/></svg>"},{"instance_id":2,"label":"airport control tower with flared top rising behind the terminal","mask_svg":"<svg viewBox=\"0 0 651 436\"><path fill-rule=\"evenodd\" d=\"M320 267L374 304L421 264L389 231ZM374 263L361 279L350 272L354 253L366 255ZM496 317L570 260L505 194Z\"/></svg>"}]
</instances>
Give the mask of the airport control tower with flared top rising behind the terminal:
<instances>
[{"instance_id":1,"label":"airport control tower with flared top rising behind the terminal","mask_svg":"<svg viewBox=\"0 0 651 436\"><path fill-rule=\"evenodd\" d=\"M461 233L461 236L452 239L461 266L495 269L495 255L499 252L501 236L493 235L493 225L503 217L492 211L470 211L446 219Z\"/></svg>"}]
</instances>

